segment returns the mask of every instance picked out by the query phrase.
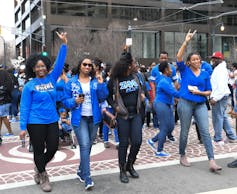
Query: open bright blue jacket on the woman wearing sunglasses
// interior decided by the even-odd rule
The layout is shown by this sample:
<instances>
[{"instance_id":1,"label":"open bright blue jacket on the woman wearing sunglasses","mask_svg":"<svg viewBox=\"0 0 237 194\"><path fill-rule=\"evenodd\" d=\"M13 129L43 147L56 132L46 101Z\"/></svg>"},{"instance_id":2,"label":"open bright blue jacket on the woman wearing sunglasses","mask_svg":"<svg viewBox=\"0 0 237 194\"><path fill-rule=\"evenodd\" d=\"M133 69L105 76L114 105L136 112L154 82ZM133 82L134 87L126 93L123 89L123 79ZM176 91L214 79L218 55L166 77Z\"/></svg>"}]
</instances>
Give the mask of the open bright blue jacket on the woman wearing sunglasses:
<instances>
[{"instance_id":1,"label":"open bright blue jacket on the woman wearing sunglasses","mask_svg":"<svg viewBox=\"0 0 237 194\"><path fill-rule=\"evenodd\" d=\"M90 80L90 92L91 92L91 102L92 102L92 113L93 113L93 123L97 124L101 122L101 109L99 102L103 101L108 96L108 89L106 83L98 83L96 78ZM78 75L72 77L65 88L65 96L63 104L71 109L72 118L71 123L73 126L80 126L81 121L81 104L77 104L75 98L77 95L82 94L81 83L78 81Z\"/></svg>"}]
</instances>

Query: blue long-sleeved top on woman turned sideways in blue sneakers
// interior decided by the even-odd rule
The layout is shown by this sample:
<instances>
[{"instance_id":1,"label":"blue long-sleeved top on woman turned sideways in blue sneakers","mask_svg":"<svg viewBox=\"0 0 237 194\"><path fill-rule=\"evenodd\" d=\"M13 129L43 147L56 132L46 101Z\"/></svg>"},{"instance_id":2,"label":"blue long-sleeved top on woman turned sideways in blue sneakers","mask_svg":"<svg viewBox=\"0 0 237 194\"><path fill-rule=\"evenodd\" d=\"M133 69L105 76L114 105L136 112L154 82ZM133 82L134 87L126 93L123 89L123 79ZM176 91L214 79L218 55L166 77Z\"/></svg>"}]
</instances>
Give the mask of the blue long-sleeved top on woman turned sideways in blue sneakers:
<instances>
[{"instance_id":1,"label":"blue long-sleeved top on woman turned sideways in blue sneakers","mask_svg":"<svg viewBox=\"0 0 237 194\"><path fill-rule=\"evenodd\" d=\"M174 97L179 97L179 92L174 88L172 79L161 75L161 79L156 87L156 97L154 102L163 102L165 104L174 104Z\"/></svg>"}]
</instances>

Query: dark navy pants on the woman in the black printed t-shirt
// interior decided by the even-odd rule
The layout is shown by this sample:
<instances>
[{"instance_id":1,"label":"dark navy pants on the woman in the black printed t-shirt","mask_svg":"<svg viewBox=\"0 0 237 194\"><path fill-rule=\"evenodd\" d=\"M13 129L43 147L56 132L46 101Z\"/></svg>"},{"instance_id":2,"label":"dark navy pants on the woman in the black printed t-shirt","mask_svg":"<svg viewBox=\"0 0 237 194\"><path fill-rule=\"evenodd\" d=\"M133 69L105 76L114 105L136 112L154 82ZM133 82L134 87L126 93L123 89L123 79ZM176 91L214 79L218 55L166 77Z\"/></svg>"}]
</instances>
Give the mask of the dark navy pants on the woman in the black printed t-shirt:
<instances>
[{"instance_id":1,"label":"dark navy pants on the woman in the black printed t-shirt","mask_svg":"<svg viewBox=\"0 0 237 194\"><path fill-rule=\"evenodd\" d=\"M142 144L142 118L140 114L130 119L117 118L119 149L119 164L124 165L127 160L134 162ZM127 159L127 149L131 144Z\"/></svg>"}]
</instances>

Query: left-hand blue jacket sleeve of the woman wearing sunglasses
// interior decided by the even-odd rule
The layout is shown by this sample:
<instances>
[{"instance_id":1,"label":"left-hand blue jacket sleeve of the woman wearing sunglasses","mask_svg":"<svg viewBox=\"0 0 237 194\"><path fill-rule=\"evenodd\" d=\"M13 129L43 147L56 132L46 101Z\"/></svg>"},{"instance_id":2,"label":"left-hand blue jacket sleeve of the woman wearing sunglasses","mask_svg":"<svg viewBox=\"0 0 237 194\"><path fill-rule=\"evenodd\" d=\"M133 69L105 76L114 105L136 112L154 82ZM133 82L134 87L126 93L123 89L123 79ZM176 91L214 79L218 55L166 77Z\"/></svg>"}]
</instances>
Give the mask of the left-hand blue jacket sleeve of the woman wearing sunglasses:
<instances>
[{"instance_id":1,"label":"left-hand blue jacket sleeve of the woman wearing sunglasses","mask_svg":"<svg viewBox=\"0 0 237 194\"><path fill-rule=\"evenodd\" d=\"M71 81L68 81L67 84L65 85L64 89L64 97L62 99L62 102L66 108L73 109L77 106L77 103L75 101L74 96L72 95L71 91Z\"/></svg>"}]
</instances>

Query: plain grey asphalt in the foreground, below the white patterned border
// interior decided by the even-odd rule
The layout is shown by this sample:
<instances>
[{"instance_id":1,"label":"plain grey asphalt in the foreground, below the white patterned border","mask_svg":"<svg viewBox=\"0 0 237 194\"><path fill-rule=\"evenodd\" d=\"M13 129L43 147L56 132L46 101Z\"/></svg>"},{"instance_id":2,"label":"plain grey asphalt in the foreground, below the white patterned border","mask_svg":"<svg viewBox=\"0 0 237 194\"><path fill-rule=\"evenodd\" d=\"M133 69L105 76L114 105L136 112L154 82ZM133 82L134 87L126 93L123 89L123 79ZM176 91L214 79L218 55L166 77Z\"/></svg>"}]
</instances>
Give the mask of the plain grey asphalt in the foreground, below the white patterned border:
<instances>
[{"instance_id":1,"label":"plain grey asphalt in the foreground, below the white patterned border","mask_svg":"<svg viewBox=\"0 0 237 194\"><path fill-rule=\"evenodd\" d=\"M92 176L95 187L89 193L103 194L194 194L236 187L237 169L226 168L232 159L218 160L223 166L220 175L208 171L207 161L194 162L190 168L180 165L154 167L138 170L139 179L129 178L129 183L119 181L118 173ZM137 167L137 166L136 166ZM57 181L52 183L52 194L88 193L79 180ZM234 188L236 189L236 188ZM222 194L234 194L236 190L220 191ZM38 185L1 190L1 194L42 194ZM216 194L213 192L212 194Z\"/></svg>"}]
</instances>

